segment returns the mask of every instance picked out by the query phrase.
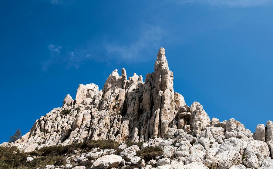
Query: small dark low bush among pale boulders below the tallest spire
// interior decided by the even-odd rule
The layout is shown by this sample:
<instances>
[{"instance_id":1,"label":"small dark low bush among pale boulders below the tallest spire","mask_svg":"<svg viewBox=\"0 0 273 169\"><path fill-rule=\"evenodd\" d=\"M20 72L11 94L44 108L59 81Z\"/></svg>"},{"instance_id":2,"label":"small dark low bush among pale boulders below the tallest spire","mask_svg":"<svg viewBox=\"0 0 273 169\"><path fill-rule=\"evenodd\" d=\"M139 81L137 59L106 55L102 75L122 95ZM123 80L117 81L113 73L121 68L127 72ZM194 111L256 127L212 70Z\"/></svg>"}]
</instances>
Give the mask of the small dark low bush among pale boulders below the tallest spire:
<instances>
[{"instance_id":1,"label":"small dark low bush among pale boulders below the tallest spire","mask_svg":"<svg viewBox=\"0 0 273 169\"><path fill-rule=\"evenodd\" d=\"M162 155L163 150L161 147L146 147L136 152L136 156L144 159L145 161L150 161L157 156Z\"/></svg>"}]
</instances>

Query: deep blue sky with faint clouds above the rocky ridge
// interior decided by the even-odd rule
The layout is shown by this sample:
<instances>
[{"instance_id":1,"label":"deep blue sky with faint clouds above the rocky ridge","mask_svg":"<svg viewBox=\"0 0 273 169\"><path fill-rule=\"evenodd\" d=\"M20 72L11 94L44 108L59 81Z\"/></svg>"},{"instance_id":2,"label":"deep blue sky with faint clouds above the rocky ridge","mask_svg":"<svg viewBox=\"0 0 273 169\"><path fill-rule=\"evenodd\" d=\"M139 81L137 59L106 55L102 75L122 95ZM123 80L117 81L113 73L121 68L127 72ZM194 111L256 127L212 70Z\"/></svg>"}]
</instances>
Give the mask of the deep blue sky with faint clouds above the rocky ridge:
<instances>
[{"instance_id":1,"label":"deep blue sky with faint clouds above the rocky ridge","mask_svg":"<svg viewBox=\"0 0 273 169\"><path fill-rule=\"evenodd\" d=\"M187 105L252 132L273 120L272 1L0 3L0 142L75 98L79 84L101 89L123 67L145 77L160 47Z\"/></svg>"}]
</instances>

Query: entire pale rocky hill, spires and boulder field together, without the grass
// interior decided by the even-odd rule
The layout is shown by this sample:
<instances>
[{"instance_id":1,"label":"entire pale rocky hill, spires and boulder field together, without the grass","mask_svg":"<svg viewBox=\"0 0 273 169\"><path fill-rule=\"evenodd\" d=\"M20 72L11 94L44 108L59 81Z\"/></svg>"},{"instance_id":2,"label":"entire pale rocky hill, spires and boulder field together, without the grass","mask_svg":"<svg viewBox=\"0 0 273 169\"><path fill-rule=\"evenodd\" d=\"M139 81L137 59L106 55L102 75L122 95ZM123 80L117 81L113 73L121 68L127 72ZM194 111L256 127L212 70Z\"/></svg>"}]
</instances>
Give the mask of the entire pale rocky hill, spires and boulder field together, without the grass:
<instances>
[{"instance_id":1,"label":"entire pale rocky hill, spires and boulder field together, without the grass","mask_svg":"<svg viewBox=\"0 0 273 169\"><path fill-rule=\"evenodd\" d=\"M199 102L187 105L174 92L174 74L165 49L160 48L154 72L133 74L114 70L103 89L80 84L76 98L66 95L63 105L36 120L32 128L5 148L34 152L44 147L87 141L113 140L118 149L92 147L66 156L66 165L45 168L273 168L273 123L259 124L251 133L235 119L211 118ZM132 144L128 146L128 142ZM152 156L155 149L160 152ZM143 155L145 150L148 155ZM148 158L148 157L152 157ZM32 161L39 157L27 157Z\"/></svg>"}]
</instances>

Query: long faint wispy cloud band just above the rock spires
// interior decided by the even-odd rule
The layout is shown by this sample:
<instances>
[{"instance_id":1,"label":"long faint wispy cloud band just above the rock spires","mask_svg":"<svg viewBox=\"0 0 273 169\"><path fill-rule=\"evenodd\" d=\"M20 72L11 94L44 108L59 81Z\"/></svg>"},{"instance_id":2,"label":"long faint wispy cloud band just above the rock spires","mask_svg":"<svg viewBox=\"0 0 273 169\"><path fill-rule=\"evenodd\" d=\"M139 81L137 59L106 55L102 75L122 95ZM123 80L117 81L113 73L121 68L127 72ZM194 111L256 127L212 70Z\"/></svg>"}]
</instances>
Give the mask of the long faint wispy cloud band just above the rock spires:
<instances>
[{"instance_id":1,"label":"long faint wispy cloud band just above the rock spires","mask_svg":"<svg viewBox=\"0 0 273 169\"><path fill-rule=\"evenodd\" d=\"M129 38L128 42L120 45L117 41L103 41L92 43L83 47L62 47L57 44L48 46L50 57L42 62L42 70L48 70L52 64L63 64L64 68L78 69L88 60L97 62L134 61L141 62L149 59L147 53L152 53L161 47L161 40L166 37L166 32L159 26L144 25L139 34ZM146 55L145 55L146 54Z\"/></svg>"}]
</instances>

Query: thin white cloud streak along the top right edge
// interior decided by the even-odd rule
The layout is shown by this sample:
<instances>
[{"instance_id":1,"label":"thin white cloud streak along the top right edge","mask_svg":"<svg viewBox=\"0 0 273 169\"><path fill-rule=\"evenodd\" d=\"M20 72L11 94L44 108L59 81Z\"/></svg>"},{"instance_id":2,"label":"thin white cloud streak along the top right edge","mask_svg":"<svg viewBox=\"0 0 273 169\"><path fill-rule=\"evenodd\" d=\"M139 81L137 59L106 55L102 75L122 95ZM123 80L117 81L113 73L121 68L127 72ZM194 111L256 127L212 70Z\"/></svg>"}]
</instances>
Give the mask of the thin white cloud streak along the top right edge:
<instances>
[{"instance_id":1,"label":"thin white cloud streak along the top right edge","mask_svg":"<svg viewBox=\"0 0 273 169\"><path fill-rule=\"evenodd\" d=\"M259 5L266 5L271 3L271 0L175 0L175 2L185 4L185 3L201 3L208 4L211 6L228 6L228 7L238 7L246 8Z\"/></svg>"}]
</instances>

